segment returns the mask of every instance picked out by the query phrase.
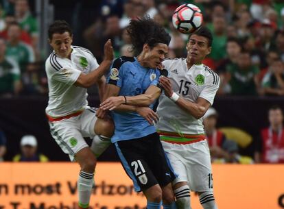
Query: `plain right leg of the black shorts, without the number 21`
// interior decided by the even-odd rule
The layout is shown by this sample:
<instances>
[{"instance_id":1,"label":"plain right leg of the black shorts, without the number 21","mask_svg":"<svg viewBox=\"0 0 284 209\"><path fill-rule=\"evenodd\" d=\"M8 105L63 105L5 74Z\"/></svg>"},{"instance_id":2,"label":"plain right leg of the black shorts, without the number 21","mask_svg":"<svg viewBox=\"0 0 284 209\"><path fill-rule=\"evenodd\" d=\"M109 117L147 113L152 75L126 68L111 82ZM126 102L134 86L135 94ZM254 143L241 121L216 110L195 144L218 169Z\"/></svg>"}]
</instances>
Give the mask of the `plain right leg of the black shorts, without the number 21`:
<instances>
[{"instance_id":1,"label":"plain right leg of the black shorts, without the number 21","mask_svg":"<svg viewBox=\"0 0 284 209\"><path fill-rule=\"evenodd\" d=\"M174 169L171 167L171 163L165 154L163 146L161 144L160 137L157 133L150 136L152 142L152 155L149 159L150 167L161 186L166 186L172 182L176 175L174 174Z\"/></svg>"}]
</instances>

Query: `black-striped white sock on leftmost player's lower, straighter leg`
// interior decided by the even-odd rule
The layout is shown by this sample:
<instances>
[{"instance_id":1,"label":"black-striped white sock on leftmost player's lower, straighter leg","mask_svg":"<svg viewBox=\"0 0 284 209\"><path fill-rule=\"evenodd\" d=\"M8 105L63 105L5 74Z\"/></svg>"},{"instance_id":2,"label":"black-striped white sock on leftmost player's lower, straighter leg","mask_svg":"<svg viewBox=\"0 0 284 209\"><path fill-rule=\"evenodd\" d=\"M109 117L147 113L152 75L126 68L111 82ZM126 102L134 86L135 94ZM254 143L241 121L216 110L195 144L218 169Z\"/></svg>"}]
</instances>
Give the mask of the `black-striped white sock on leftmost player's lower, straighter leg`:
<instances>
[{"instance_id":1,"label":"black-striped white sock on leftmost player's lower, straighter leg","mask_svg":"<svg viewBox=\"0 0 284 209\"><path fill-rule=\"evenodd\" d=\"M78 195L79 195L79 206L80 208L88 208L88 204L90 202L90 197L92 193L93 187L93 173L86 173L84 171L80 171L78 177Z\"/></svg>"}]
</instances>

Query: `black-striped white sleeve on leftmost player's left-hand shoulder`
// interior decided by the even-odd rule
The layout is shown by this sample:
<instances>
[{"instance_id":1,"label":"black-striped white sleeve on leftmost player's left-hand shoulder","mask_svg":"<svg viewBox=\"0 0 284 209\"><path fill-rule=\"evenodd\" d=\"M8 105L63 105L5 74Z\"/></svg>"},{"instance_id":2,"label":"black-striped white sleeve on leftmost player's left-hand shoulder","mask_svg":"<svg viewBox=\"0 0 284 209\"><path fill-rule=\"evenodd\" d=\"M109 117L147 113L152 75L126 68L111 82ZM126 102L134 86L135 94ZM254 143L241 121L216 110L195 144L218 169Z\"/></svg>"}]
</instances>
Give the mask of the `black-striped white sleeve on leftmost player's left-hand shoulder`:
<instances>
[{"instance_id":1,"label":"black-striped white sleeve on leftmost player's left-hand shoulder","mask_svg":"<svg viewBox=\"0 0 284 209\"><path fill-rule=\"evenodd\" d=\"M45 68L49 79L69 86L73 85L81 74L81 71L74 69L68 62L56 57L54 54L45 62Z\"/></svg>"}]
</instances>

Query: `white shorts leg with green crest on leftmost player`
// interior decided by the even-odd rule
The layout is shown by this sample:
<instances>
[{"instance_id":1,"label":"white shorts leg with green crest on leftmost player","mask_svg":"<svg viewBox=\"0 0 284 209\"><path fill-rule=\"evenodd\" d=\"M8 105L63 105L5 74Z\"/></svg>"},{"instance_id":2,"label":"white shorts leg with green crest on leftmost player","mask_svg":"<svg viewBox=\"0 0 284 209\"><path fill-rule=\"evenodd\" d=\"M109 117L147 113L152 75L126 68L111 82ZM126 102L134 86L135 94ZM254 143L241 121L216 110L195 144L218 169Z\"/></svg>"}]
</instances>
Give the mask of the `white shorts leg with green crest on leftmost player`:
<instances>
[{"instance_id":1,"label":"white shorts leg with green crest on leftmost player","mask_svg":"<svg viewBox=\"0 0 284 209\"><path fill-rule=\"evenodd\" d=\"M88 147L82 137L78 123L78 116L53 123L49 122L51 136L56 140L62 151L69 155L71 161L74 160L75 153L78 153L84 147Z\"/></svg>"}]
</instances>

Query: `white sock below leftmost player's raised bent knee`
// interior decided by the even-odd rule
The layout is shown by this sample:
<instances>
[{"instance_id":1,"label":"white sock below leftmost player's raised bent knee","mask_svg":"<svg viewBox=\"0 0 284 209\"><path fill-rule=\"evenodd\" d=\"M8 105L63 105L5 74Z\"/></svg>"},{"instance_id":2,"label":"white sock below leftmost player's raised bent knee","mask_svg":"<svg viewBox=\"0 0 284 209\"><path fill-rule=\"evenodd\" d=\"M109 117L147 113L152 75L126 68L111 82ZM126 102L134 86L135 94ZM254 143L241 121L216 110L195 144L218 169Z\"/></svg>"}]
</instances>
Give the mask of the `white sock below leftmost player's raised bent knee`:
<instances>
[{"instance_id":1,"label":"white sock below leftmost player's raised bent knee","mask_svg":"<svg viewBox=\"0 0 284 209\"><path fill-rule=\"evenodd\" d=\"M106 148L108 148L110 144L110 138L102 135L95 136L91 145L91 150L95 156L98 157L106 151Z\"/></svg>"}]
</instances>

